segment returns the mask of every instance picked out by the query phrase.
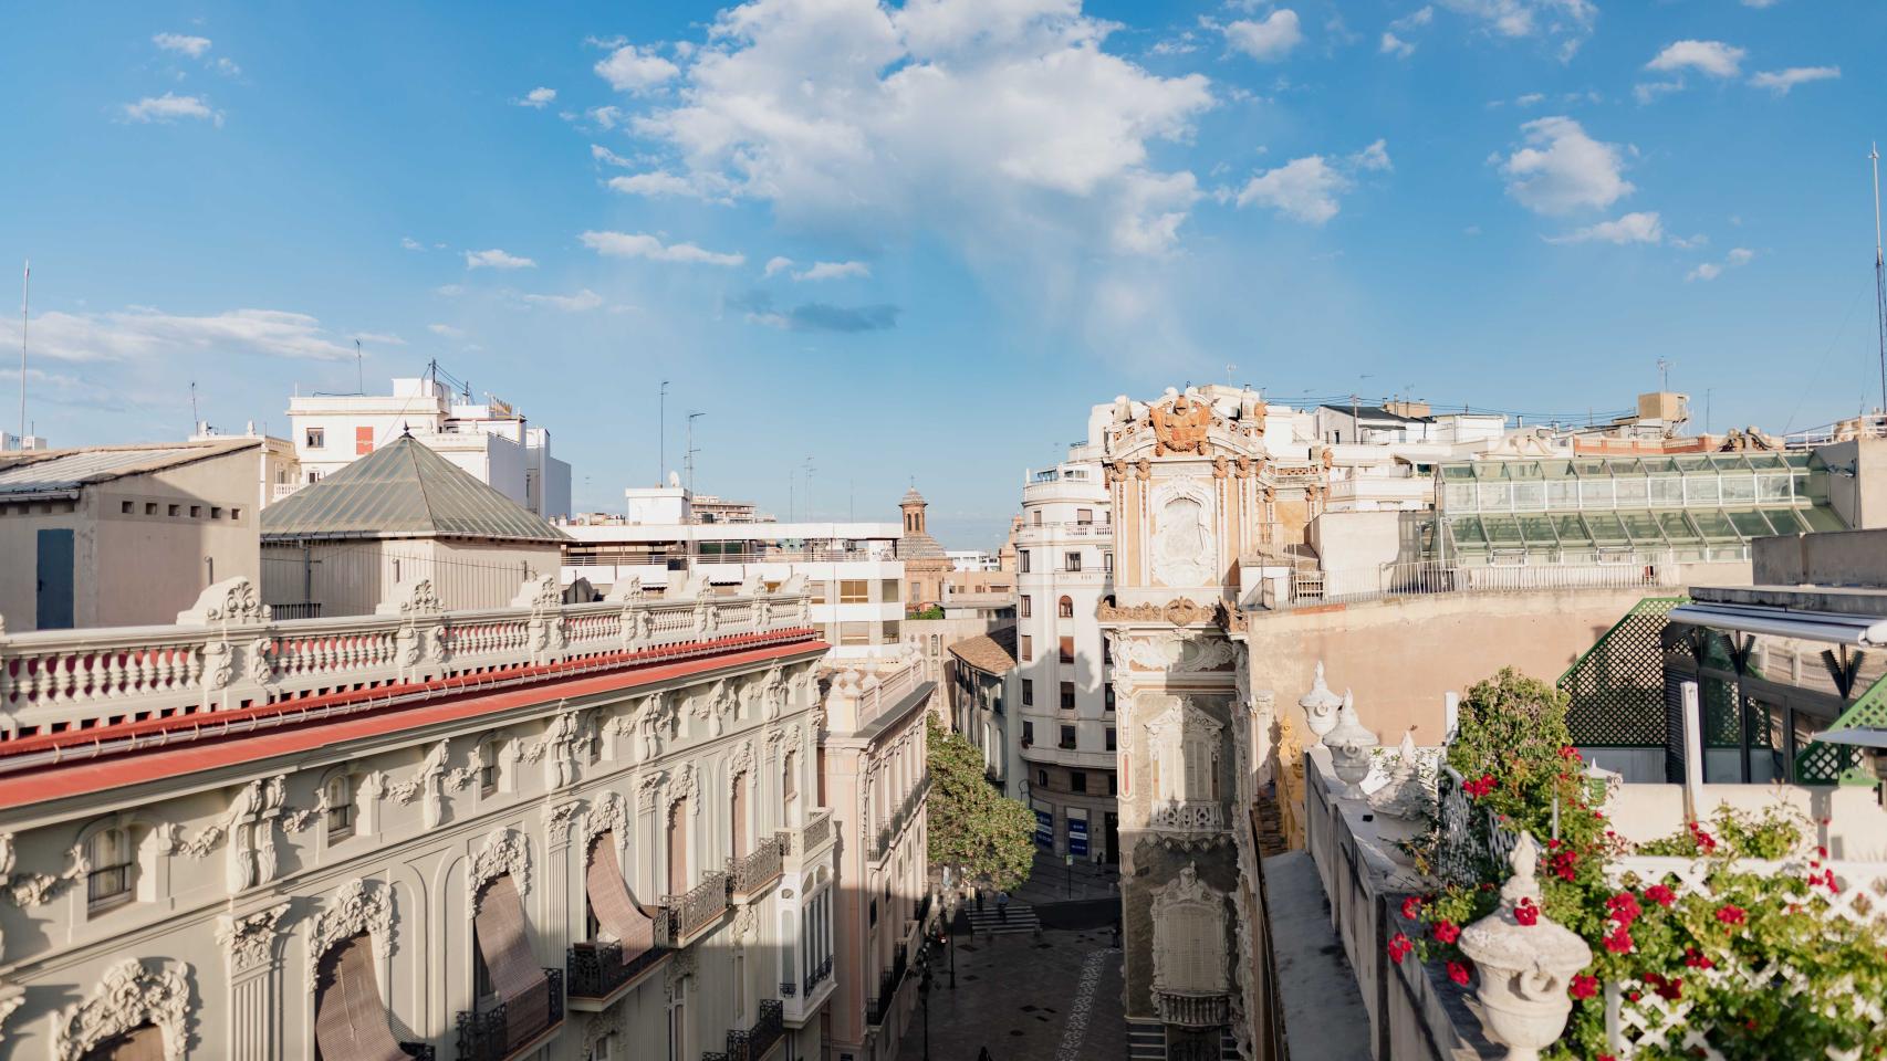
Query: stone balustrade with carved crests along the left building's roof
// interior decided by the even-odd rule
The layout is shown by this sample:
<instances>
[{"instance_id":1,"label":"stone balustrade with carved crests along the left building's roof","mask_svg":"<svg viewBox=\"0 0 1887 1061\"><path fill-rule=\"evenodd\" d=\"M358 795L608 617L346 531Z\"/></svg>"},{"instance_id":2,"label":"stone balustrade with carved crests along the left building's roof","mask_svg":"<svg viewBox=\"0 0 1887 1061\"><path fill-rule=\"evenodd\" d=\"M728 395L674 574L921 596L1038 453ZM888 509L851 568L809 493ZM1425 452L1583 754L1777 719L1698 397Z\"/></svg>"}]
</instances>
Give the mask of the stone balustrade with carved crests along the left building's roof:
<instances>
[{"instance_id":1,"label":"stone balustrade with carved crests along the left building's roof","mask_svg":"<svg viewBox=\"0 0 1887 1061\"><path fill-rule=\"evenodd\" d=\"M140 735L125 739L162 743L177 729L164 720L179 716L202 729L232 710L306 712L315 697L385 701L402 686L460 677L613 665L626 654L802 628L810 614L804 594L562 605L555 580L526 586L538 596L519 599L534 603L443 612L428 584L406 582L394 590L406 597L381 614L276 622L253 586L232 579L175 626L0 635L0 758L23 739L98 746L128 726Z\"/></svg>"}]
</instances>

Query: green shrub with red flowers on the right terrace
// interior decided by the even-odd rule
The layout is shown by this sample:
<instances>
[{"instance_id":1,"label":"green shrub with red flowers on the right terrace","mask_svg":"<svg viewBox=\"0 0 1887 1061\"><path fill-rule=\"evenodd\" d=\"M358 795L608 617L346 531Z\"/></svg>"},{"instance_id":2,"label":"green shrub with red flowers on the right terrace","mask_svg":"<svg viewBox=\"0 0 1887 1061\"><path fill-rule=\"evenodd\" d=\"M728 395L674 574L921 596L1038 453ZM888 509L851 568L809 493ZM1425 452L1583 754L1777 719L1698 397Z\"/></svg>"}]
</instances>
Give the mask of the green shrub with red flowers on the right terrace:
<instances>
[{"instance_id":1,"label":"green shrub with red flowers on the right terrace","mask_svg":"<svg viewBox=\"0 0 1887 1061\"><path fill-rule=\"evenodd\" d=\"M1712 1050L1730 1061L1887 1053L1887 933L1829 916L1842 884L1825 867L1829 852L1808 846L1806 820L1723 808L1712 822L1689 822L1632 850L1598 808L1604 792L1572 748L1557 690L1508 669L1474 686L1461 709L1447 763L1472 778L1462 782L1464 795L1502 829L1547 837L1542 901L1521 903L1513 920L1525 927L1551 918L1593 948L1591 967L1568 988L1572 1020L1547 1057L1610 1057L1608 982L1625 986L1628 1004L1689 1006L1683 1023L1708 1029ZM1472 827L1485 824L1476 816ZM1444 841L1436 822L1411 844L1421 869L1430 869L1423 859ZM1674 876L1608 873L1627 854L1691 859L1706 884L1689 890ZM1751 859L1770 865L1751 867ZM1776 863L1783 869L1774 871ZM1468 984L1461 927L1495 910L1506 873L1489 859L1478 880L1406 899L1402 914L1425 931L1396 933L1391 957L1438 959L1453 982ZM1670 1038L1670 1050L1640 1042L1634 1057L1702 1055L1683 1048L1681 1035Z\"/></svg>"}]
</instances>

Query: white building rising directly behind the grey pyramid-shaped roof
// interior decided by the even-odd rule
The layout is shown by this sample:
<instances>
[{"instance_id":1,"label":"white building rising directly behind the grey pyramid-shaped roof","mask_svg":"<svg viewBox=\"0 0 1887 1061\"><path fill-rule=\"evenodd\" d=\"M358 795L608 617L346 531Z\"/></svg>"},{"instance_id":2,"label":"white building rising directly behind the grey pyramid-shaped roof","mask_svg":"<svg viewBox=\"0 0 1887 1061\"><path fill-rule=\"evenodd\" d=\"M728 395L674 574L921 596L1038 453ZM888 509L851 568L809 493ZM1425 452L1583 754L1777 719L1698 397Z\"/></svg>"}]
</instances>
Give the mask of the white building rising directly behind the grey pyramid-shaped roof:
<instances>
[{"instance_id":1,"label":"white building rising directly behind the grey pyramid-shaped roof","mask_svg":"<svg viewBox=\"0 0 1887 1061\"><path fill-rule=\"evenodd\" d=\"M551 456L551 433L509 403L489 394L472 401L434 375L394 379L385 396L296 394L289 424L304 484L411 433L532 513L570 514L570 464Z\"/></svg>"}]
</instances>

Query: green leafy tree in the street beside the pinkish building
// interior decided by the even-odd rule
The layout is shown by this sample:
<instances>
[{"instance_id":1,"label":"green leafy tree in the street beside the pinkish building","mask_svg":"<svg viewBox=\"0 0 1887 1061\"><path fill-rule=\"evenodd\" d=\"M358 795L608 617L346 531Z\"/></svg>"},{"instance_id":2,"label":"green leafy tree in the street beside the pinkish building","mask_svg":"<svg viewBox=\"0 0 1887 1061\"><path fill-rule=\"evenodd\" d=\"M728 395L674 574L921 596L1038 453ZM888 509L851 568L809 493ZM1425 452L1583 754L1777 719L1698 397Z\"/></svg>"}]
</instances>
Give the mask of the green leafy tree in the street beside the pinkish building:
<instances>
[{"instance_id":1,"label":"green leafy tree in the street beside the pinkish building","mask_svg":"<svg viewBox=\"0 0 1887 1061\"><path fill-rule=\"evenodd\" d=\"M1036 857L1036 814L983 776L983 752L925 720L930 741L930 865L1015 891Z\"/></svg>"}]
</instances>

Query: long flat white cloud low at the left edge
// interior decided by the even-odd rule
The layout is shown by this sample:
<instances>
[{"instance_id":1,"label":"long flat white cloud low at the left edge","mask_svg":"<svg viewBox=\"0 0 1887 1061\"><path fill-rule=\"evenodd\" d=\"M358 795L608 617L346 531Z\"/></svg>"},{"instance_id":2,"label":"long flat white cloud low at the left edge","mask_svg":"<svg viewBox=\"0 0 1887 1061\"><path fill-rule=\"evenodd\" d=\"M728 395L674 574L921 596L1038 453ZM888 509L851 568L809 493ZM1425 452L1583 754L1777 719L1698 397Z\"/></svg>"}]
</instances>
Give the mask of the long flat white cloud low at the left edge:
<instances>
[{"instance_id":1,"label":"long flat white cloud low at the left edge","mask_svg":"<svg viewBox=\"0 0 1887 1061\"><path fill-rule=\"evenodd\" d=\"M0 322L6 345L19 345L19 322ZM370 335L362 334L362 339ZM385 337L372 335L376 341ZM62 362L160 362L168 356L260 354L270 358L340 362L355 356L353 343L321 328L306 313L230 309L204 317L134 305L113 313L42 313L32 318L32 356Z\"/></svg>"}]
</instances>

